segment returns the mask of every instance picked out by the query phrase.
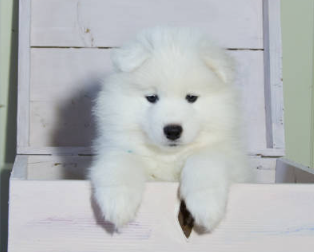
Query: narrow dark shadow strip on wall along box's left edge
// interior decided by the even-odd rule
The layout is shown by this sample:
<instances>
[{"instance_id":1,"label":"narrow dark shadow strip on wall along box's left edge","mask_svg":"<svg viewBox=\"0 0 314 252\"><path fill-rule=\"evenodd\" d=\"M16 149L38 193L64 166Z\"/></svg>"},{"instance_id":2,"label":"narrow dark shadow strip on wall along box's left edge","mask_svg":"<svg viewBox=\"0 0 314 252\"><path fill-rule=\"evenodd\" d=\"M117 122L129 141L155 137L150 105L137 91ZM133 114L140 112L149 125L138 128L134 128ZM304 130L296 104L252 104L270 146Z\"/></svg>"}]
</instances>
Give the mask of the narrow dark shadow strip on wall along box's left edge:
<instances>
[{"instance_id":1,"label":"narrow dark shadow strip on wall along box's left edge","mask_svg":"<svg viewBox=\"0 0 314 252\"><path fill-rule=\"evenodd\" d=\"M5 157L6 164L14 162L16 155L16 104L17 104L17 49L18 49L18 0L13 1L12 9L12 32L10 51L9 92L7 103L7 124L5 134ZM11 165L1 168L1 236L0 249L7 251L8 238L8 190Z\"/></svg>"}]
</instances>

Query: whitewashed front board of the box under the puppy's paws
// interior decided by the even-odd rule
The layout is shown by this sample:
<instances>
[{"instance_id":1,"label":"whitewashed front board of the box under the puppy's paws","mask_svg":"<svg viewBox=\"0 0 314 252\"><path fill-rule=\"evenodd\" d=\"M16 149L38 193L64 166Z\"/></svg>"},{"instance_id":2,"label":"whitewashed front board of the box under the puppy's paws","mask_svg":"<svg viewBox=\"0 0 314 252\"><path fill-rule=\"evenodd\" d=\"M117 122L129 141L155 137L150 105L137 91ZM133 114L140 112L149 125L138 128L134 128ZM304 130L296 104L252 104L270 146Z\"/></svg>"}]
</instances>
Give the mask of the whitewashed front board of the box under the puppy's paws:
<instances>
[{"instance_id":1,"label":"whitewashed front board of the box under the puppy's paws","mask_svg":"<svg viewBox=\"0 0 314 252\"><path fill-rule=\"evenodd\" d=\"M313 185L233 185L218 228L188 240L177 188L147 183L136 219L118 234L91 203L88 182L12 181L9 251L313 250Z\"/></svg>"}]
</instances>

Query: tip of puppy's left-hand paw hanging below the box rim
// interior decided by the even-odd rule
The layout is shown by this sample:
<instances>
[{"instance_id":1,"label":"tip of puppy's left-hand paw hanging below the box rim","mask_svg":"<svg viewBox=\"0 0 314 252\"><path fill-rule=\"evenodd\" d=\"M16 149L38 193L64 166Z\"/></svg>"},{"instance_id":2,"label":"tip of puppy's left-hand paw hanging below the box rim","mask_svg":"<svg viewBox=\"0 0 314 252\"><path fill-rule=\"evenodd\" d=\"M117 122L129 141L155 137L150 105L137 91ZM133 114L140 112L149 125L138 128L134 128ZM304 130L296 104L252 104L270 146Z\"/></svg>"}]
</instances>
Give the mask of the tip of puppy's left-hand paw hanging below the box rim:
<instances>
[{"instance_id":1,"label":"tip of puppy's left-hand paw hanging below the box rim","mask_svg":"<svg viewBox=\"0 0 314 252\"><path fill-rule=\"evenodd\" d=\"M142 191L130 186L109 186L96 190L95 198L105 220L119 229L135 218Z\"/></svg>"}]
</instances>

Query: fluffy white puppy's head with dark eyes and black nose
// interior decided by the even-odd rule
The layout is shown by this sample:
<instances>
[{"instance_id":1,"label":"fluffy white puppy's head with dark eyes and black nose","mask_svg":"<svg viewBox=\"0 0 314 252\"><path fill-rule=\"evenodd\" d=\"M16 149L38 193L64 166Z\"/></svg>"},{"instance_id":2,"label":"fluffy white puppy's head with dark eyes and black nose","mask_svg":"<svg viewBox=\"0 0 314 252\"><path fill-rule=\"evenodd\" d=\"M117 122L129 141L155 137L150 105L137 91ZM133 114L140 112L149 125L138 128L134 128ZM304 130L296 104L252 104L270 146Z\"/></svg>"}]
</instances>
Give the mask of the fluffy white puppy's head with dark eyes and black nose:
<instances>
[{"instance_id":1,"label":"fluffy white puppy's head with dark eyes and black nose","mask_svg":"<svg viewBox=\"0 0 314 252\"><path fill-rule=\"evenodd\" d=\"M126 101L126 113L133 113L149 144L214 141L232 125L233 61L201 33L146 30L115 49L112 60L132 103L128 111Z\"/></svg>"}]
</instances>

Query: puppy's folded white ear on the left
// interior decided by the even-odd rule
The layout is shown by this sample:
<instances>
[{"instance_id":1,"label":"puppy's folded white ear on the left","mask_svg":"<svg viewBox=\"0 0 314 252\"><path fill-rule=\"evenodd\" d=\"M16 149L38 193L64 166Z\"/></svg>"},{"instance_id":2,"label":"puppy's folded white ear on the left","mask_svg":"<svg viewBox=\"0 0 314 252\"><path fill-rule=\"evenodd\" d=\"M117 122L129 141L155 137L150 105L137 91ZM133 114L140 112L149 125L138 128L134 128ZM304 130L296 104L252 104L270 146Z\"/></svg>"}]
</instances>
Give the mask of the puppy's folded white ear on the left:
<instances>
[{"instance_id":1,"label":"puppy's folded white ear on the left","mask_svg":"<svg viewBox=\"0 0 314 252\"><path fill-rule=\"evenodd\" d=\"M149 52L140 41L133 41L114 49L111 60L117 72L133 72L149 58Z\"/></svg>"}]
</instances>

